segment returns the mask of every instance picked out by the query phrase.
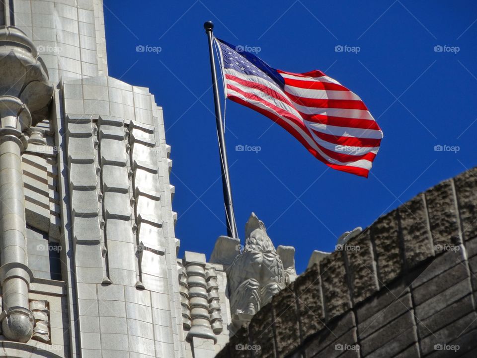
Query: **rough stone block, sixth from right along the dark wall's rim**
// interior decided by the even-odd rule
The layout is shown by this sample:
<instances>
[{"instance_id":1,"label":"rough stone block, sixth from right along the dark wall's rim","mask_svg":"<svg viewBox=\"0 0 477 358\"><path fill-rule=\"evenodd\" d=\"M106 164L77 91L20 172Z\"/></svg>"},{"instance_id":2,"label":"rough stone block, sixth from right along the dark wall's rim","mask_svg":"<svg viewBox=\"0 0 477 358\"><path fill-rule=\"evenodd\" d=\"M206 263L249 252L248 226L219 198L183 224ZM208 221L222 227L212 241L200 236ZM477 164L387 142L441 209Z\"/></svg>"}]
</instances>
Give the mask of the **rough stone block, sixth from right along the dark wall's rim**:
<instances>
[{"instance_id":1,"label":"rough stone block, sixth from right along the dark wall's rim","mask_svg":"<svg viewBox=\"0 0 477 358\"><path fill-rule=\"evenodd\" d=\"M320 263L319 272L327 322L351 307L344 265L343 255L340 251L335 251Z\"/></svg>"}]
</instances>

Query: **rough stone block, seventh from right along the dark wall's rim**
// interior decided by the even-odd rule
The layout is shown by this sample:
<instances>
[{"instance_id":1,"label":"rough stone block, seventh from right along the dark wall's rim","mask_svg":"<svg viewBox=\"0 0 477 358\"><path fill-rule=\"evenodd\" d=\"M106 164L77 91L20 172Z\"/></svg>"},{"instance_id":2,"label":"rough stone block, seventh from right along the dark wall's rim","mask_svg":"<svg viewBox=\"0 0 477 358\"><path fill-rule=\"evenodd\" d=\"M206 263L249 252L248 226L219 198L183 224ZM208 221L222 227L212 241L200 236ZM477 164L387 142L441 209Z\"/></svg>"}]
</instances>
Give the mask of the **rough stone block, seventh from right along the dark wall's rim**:
<instances>
[{"instance_id":1,"label":"rough stone block, seventh from right along the dark wall's rim","mask_svg":"<svg viewBox=\"0 0 477 358\"><path fill-rule=\"evenodd\" d=\"M312 266L295 280L298 316L303 339L324 327L323 298L318 265Z\"/></svg>"}]
</instances>

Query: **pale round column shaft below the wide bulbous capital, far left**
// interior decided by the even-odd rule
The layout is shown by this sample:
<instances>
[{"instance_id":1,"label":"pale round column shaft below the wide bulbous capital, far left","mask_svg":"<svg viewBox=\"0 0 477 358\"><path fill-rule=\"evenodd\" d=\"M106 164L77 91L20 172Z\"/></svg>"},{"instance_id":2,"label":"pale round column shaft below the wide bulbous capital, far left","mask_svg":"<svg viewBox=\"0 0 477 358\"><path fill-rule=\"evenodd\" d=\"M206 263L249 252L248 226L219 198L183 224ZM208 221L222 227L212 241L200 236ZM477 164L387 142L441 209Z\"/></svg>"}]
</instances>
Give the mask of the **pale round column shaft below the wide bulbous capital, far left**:
<instances>
[{"instance_id":1,"label":"pale round column shaft below the wide bulbous capital, far left","mask_svg":"<svg viewBox=\"0 0 477 358\"><path fill-rule=\"evenodd\" d=\"M18 98L2 96L0 117L1 328L7 339L28 342L33 332L33 318L28 303L30 270L21 153L26 149L22 132L31 125L31 115Z\"/></svg>"}]
</instances>

